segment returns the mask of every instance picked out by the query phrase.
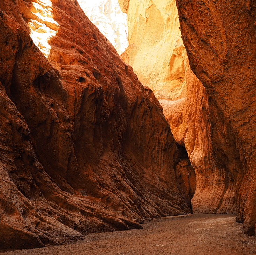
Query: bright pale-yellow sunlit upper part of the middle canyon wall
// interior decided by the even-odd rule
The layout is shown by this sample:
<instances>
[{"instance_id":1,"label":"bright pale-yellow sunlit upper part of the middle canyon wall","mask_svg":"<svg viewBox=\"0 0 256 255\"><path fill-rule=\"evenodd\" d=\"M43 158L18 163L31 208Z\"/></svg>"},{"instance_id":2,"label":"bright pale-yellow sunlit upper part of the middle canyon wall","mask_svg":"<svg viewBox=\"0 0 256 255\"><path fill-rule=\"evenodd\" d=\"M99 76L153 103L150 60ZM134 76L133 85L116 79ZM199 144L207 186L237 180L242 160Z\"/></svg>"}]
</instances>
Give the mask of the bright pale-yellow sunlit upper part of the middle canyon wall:
<instances>
[{"instance_id":1,"label":"bright pale-yellow sunlit upper part of the middle canyon wall","mask_svg":"<svg viewBox=\"0 0 256 255\"><path fill-rule=\"evenodd\" d=\"M175 0L129 0L129 47L121 55L157 99L173 99L184 81L182 39ZM175 50L176 48L176 50Z\"/></svg>"}]
</instances>

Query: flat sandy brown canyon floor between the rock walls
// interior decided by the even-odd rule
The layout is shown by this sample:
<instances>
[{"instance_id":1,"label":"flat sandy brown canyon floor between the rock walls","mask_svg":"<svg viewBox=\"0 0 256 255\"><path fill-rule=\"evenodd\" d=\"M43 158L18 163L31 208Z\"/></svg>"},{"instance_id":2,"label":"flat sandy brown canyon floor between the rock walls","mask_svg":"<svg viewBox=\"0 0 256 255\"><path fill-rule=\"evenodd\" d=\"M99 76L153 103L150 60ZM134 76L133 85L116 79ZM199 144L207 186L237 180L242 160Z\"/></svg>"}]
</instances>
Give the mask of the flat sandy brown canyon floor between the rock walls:
<instances>
[{"instance_id":1,"label":"flat sandy brown canyon floor between the rock walls","mask_svg":"<svg viewBox=\"0 0 256 255\"><path fill-rule=\"evenodd\" d=\"M89 234L61 246L0 253L4 255L247 255L256 254L256 238L242 233L235 215L194 214L166 217L144 229Z\"/></svg>"}]
</instances>

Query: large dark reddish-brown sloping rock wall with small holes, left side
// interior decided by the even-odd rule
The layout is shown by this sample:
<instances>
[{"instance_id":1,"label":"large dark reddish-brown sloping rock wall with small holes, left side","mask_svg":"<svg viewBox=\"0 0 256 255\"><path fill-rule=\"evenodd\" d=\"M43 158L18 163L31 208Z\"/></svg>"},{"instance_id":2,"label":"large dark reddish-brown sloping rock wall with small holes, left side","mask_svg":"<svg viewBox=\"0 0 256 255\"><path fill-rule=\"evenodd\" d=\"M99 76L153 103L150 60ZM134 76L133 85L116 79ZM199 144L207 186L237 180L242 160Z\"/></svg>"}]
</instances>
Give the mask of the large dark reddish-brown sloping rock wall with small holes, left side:
<instances>
[{"instance_id":1,"label":"large dark reddish-brown sloping rock wall with small holes, left side","mask_svg":"<svg viewBox=\"0 0 256 255\"><path fill-rule=\"evenodd\" d=\"M1 1L0 34L1 248L190 212L159 102L77 1Z\"/></svg>"}]
</instances>

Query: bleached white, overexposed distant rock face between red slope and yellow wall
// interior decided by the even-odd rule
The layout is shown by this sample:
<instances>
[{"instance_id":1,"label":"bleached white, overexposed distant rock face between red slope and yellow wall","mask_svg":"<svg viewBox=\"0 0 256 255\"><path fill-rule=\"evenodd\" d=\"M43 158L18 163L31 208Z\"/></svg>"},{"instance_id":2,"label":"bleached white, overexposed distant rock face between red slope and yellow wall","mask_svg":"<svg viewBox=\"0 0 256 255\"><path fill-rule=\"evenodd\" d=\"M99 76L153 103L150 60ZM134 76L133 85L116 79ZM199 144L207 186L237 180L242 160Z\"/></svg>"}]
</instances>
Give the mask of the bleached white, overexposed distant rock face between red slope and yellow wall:
<instances>
[{"instance_id":1,"label":"bleached white, overexposed distant rock face between red slope and yellow wall","mask_svg":"<svg viewBox=\"0 0 256 255\"><path fill-rule=\"evenodd\" d=\"M118 0L78 0L90 21L112 43L118 54L128 47L127 15Z\"/></svg>"}]
</instances>

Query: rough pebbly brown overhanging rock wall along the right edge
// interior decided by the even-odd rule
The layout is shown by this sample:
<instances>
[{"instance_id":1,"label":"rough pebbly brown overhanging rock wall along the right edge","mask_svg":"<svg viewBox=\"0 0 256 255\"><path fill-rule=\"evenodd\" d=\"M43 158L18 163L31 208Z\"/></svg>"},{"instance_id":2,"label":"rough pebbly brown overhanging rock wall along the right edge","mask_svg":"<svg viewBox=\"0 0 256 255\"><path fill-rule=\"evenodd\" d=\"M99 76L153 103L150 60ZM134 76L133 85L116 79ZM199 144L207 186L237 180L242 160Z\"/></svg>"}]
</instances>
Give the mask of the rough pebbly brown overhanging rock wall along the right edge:
<instances>
[{"instance_id":1,"label":"rough pebbly brown overhanging rock wall along the right edge","mask_svg":"<svg viewBox=\"0 0 256 255\"><path fill-rule=\"evenodd\" d=\"M235 157L237 219L254 234L255 184L255 1L176 0L189 63L219 109ZM229 147L229 146L228 146ZM234 162L235 163L235 162Z\"/></svg>"}]
</instances>

